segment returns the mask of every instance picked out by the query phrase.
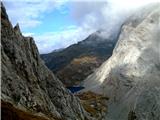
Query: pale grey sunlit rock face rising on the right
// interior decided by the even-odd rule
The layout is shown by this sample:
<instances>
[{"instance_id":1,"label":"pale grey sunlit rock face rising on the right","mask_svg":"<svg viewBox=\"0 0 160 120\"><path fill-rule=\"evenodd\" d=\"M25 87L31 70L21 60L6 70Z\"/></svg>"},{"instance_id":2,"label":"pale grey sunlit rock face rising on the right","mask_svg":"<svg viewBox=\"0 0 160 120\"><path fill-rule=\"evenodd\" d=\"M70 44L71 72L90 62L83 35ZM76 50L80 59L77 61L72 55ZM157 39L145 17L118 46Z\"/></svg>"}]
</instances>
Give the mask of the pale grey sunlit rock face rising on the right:
<instances>
[{"instance_id":1,"label":"pale grey sunlit rock face rising on the right","mask_svg":"<svg viewBox=\"0 0 160 120\"><path fill-rule=\"evenodd\" d=\"M160 4L123 25L113 55L84 85L110 98L106 120L160 119Z\"/></svg>"}]
</instances>

